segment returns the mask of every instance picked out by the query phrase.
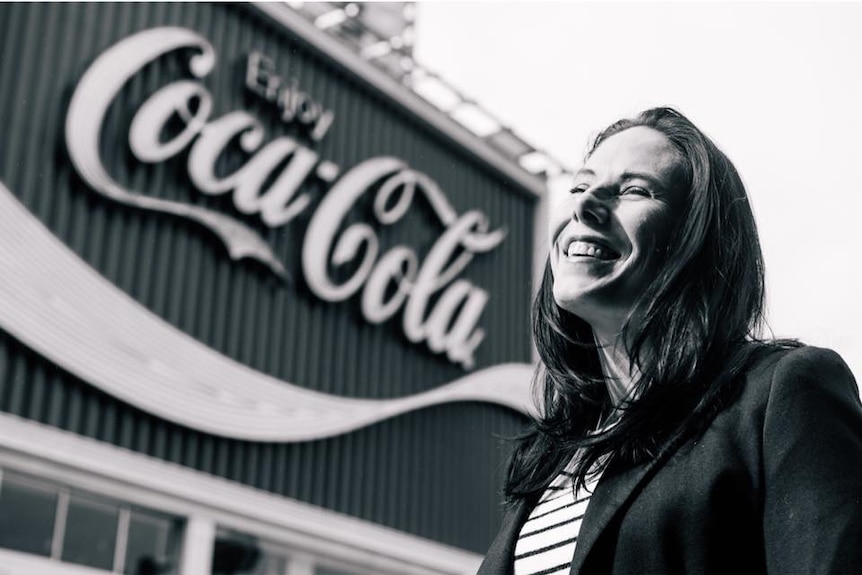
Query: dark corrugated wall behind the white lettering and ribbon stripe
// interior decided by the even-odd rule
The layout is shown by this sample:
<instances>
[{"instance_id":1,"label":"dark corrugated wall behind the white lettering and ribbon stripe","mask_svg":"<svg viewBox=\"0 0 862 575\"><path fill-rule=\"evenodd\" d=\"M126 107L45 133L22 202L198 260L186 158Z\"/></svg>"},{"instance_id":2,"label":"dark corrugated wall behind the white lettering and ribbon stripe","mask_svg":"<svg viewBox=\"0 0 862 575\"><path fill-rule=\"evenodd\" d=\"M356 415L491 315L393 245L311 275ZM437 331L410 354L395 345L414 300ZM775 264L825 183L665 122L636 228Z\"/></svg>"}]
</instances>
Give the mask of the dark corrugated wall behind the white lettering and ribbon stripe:
<instances>
[{"instance_id":1,"label":"dark corrugated wall behind the white lettering and ribbon stripe","mask_svg":"<svg viewBox=\"0 0 862 575\"><path fill-rule=\"evenodd\" d=\"M462 277L491 295L481 320L477 367L529 361L528 307L533 200L422 121L339 67L294 43L247 6L230 4L0 5L0 180L59 238L121 289L167 321L254 369L311 389L396 397L432 389L463 370L410 344L397 320L367 324L355 298L316 300L302 284L299 254L308 214L268 230L294 282L230 261L221 245L187 222L118 206L93 193L69 165L63 123L94 58L143 29L182 26L215 47L205 84L213 117L248 110L267 138L290 134L266 104L241 88L246 54L257 49L335 113L317 150L341 166L395 155L431 176L463 212L478 208L508 236ZM148 195L238 215L228 197L204 197L188 181L185 156L145 166L127 145L131 114L155 89L180 77L160 59L123 89L105 123L102 159L122 185ZM307 189L319 201L321 189ZM427 250L439 234L431 216L411 214L380 231L382 248ZM420 257L423 252L420 251ZM212 437L131 408L49 365L0 334L0 409L254 487L349 513L474 551L498 525L504 449L523 418L475 403L438 406L333 439L257 444Z\"/></svg>"}]
</instances>

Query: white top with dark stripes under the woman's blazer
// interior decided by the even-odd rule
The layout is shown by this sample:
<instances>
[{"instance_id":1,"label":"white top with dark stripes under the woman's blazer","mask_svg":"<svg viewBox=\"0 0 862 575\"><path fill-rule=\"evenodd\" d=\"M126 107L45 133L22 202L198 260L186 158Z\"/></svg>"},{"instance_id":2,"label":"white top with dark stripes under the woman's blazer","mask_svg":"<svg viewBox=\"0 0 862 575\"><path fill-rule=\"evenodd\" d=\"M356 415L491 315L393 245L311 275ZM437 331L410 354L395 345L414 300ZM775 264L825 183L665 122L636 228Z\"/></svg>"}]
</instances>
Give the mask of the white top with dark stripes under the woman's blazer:
<instances>
[{"instance_id":1,"label":"white top with dark stripes under the woman's blazer","mask_svg":"<svg viewBox=\"0 0 862 575\"><path fill-rule=\"evenodd\" d=\"M575 493L574 461L542 494L521 527L515 545L515 575L566 575L571 569L581 522L599 477L588 476L586 491Z\"/></svg>"}]
</instances>

